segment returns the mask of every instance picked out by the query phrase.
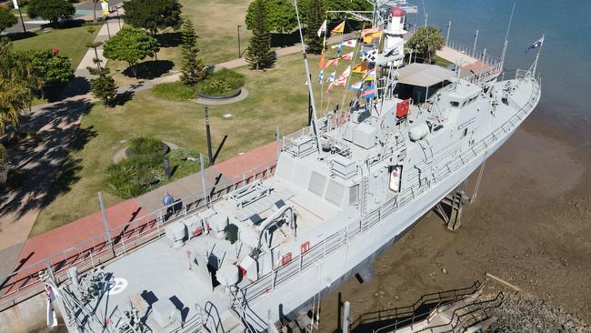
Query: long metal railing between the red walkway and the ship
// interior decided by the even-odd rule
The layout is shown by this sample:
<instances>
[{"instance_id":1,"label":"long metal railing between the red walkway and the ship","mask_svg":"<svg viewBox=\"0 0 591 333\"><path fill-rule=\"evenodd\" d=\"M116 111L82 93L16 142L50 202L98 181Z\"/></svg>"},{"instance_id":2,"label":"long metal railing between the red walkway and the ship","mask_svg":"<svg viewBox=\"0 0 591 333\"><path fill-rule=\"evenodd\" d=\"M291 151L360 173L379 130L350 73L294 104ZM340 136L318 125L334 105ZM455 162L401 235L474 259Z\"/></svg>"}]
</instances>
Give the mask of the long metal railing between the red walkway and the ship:
<instances>
[{"instance_id":1,"label":"long metal railing between the red walkway and the ship","mask_svg":"<svg viewBox=\"0 0 591 333\"><path fill-rule=\"evenodd\" d=\"M195 214L236 188L272 176L275 173L275 165L276 161L272 161L248 170L232 181L207 187L206 196L184 197L180 203L177 201L171 205L172 214L167 214L171 207L156 209L119 227L112 227L108 233L105 231L53 256L15 270L12 274L0 278L0 311L42 292L44 287L41 286L39 276L46 269L51 268L56 280L61 282L67 278L66 270L69 267L75 266L79 273L84 273L116 257L125 256L128 252L164 235L165 226L169 223ZM109 237L112 239L111 242Z\"/></svg>"}]
</instances>

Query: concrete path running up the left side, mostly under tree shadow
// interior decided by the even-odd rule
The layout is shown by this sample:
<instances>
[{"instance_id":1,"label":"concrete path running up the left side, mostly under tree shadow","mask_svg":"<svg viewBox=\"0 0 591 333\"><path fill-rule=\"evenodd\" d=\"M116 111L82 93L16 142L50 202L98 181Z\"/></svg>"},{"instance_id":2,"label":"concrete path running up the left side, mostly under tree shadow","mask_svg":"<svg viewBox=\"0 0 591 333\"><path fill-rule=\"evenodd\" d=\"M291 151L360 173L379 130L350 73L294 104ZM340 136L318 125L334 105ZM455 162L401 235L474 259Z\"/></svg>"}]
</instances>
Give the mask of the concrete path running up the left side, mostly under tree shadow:
<instances>
[{"instance_id":1,"label":"concrete path running up the left side, mostly under tree shadow","mask_svg":"<svg viewBox=\"0 0 591 333\"><path fill-rule=\"evenodd\" d=\"M119 31L114 21L107 21L111 34ZM101 27L95 41L108 38L106 24ZM102 54L102 50L101 50ZM70 150L84 146L93 134L79 128L82 116L87 112L94 96L78 95L88 86L90 76L86 66L94 66L94 49L86 52L80 65L75 70L75 79L66 87L66 95L74 95L63 101L35 106L29 116L21 119L21 130L31 130L37 134L41 144L28 140L11 149L10 160L17 170L26 173L26 179L18 188L7 193L0 193L0 277L12 272L16 249L23 246L35 224L40 210L62 191L67 190L65 179L56 178L60 169L62 174L74 171L78 162L69 160ZM90 65L89 65L90 64ZM63 188L61 188L63 187ZM51 189L51 191L50 191Z\"/></svg>"}]
</instances>

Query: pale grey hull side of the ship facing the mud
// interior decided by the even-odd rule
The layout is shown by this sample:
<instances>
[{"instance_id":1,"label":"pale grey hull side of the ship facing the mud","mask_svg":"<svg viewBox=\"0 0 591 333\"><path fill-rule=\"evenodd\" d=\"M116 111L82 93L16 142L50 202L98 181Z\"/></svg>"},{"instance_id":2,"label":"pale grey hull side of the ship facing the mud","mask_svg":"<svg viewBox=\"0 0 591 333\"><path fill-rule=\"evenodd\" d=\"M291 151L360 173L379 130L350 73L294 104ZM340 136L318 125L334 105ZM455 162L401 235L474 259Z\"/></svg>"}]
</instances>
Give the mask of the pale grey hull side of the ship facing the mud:
<instances>
[{"instance_id":1,"label":"pale grey hull side of the ship facing the mud","mask_svg":"<svg viewBox=\"0 0 591 333\"><path fill-rule=\"evenodd\" d=\"M322 295L336 290L349 278L353 278L358 272L371 268L376 257L380 256L387 248L391 247L400 237L410 230L436 206L454 188L458 187L469 177L486 158L493 155L503 146L506 140L515 132L516 127L506 136L500 138L494 146L490 146L482 155L477 156L466 166L458 170L454 175L426 191L423 197L416 198L420 205L411 203L399 212L384 218L371 230L367 230L359 237L350 240L341 249L327 255L322 261L316 263L314 269L302 272L301 276L294 278L285 286L275 288L275 291L264 297L256 299L250 307L257 314L277 314L265 318L273 323L279 320L281 307L287 318L298 318L312 308L315 298L307 298L307 295ZM306 292L302 289L306 288ZM313 289L313 290L309 290ZM275 304L269 307L269 304ZM270 310L270 311L269 311ZM260 317L259 315L259 317Z\"/></svg>"}]
</instances>

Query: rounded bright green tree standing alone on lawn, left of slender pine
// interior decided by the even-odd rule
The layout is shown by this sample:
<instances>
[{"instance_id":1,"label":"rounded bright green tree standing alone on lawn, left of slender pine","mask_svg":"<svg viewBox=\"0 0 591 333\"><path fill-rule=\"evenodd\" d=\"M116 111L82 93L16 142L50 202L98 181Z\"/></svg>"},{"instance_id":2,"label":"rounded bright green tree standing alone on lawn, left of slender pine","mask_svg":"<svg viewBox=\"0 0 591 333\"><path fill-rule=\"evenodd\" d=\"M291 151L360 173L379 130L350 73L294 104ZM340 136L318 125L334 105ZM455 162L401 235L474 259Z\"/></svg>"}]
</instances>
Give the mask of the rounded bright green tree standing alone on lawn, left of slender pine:
<instances>
[{"instance_id":1,"label":"rounded bright green tree standing alone on lawn, left of slender pine","mask_svg":"<svg viewBox=\"0 0 591 333\"><path fill-rule=\"evenodd\" d=\"M103 55L107 59L125 61L137 76L135 65L146 56L155 56L159 49L158 41L145 30L123 28L105 42Z\"/></svg>"}]
</instances>

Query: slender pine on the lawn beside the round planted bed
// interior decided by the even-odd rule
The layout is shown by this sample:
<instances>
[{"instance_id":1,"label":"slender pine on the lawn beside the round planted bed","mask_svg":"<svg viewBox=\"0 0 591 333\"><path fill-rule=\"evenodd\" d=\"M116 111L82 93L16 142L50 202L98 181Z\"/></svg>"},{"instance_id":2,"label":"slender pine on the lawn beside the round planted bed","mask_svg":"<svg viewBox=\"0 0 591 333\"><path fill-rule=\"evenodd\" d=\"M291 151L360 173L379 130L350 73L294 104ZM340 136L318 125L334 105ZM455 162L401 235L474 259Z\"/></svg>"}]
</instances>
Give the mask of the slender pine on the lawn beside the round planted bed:
<instances>
[{"instance_id":1,"label":"slender pine on the lawn beside the round planted bed","mask_svg":"<svg viewBox=\"0 0 591 333\"><path fill-rule=\"evenodd\" d=\"M203 61L197 56L197 35L195 27L188 18L183 22L183 64L181 65L181 81L186 86L193 86L205 79L206 72Z\"/></svg>"}]
</instances>

